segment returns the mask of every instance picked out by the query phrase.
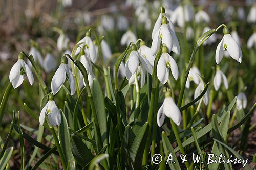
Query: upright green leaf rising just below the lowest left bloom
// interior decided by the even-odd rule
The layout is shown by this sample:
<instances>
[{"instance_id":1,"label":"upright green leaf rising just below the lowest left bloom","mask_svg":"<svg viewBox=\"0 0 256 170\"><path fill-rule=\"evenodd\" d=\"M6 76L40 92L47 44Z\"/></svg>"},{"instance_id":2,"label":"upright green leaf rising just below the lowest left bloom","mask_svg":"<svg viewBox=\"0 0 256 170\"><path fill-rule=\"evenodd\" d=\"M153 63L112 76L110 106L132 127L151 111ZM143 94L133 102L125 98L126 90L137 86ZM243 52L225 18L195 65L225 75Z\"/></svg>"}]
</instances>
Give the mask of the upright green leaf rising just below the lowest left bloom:
<instances>
[{"instance_id":1,"label":"upright green leaf rising just below the lowest left bloom","mask_svg":"<svg viewBox=\"0 0 256 170\"><path fill-rule=\"evenodd\" d=\"M75 159L71 152L68 122L62 110L60 110L60 114L61 114L61 124L58 127L60 147L63 152L63 155L65 156L66 161L69 163L68 165L69 168L76 169Z\"/></svg>"}]
</instances>

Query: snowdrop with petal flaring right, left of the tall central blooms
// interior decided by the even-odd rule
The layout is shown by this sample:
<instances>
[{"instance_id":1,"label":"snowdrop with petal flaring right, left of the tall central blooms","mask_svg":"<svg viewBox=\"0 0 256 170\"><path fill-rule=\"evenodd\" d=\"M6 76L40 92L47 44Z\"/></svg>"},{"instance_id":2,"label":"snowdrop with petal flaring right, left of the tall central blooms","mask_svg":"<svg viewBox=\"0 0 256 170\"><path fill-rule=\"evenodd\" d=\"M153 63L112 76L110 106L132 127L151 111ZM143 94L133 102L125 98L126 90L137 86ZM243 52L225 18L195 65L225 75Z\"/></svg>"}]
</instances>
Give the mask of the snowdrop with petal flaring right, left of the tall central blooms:
<instances>
[{"instance_id":1,"label":"snowdrop with petal flaring right, left of the tall central blooms","mask_svg":"<svg viewBox=\"0 0 256 170\"><path fill-rule=\"evenodd\" d=\"M128 56L128 60L125 63L125 77L127 80L129 80L133 74L138 70L139 65L142 66L144 70L146 70L149 74L152 74L152 66L150 62L147 61L147 59L139 52L137 51L137 47L135 44L132 44L132 51L130 55Z\"/></svg>"}]
</instances>

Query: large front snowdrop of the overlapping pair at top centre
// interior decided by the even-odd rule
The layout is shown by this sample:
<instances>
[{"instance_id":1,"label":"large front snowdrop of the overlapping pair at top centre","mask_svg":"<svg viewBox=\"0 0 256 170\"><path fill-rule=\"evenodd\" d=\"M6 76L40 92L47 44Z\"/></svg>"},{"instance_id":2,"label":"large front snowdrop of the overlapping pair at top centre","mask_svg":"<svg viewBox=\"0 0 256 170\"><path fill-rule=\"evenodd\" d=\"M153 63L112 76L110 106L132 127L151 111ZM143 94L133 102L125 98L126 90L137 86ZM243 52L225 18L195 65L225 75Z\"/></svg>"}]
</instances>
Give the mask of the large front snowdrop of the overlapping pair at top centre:
<instances>
[{"instance_id":1,"label":"large front snowdrop of the overlapping pair at top centre","mask_svg":"<svg viewBox=\"0 0 256 170\"><path fill-rule=\"evenodd\" d=\"M179 41L175 35L175 32L170 29L169 25L167 24L166 17L162 18L162 25L156 32L152 45L151 45L151 53L152 55L156 55L157 51L160 47L161 42L166 45L168 52L173 51L176 54L180 54L180 45Z\"/></svg>"}]
</instances>

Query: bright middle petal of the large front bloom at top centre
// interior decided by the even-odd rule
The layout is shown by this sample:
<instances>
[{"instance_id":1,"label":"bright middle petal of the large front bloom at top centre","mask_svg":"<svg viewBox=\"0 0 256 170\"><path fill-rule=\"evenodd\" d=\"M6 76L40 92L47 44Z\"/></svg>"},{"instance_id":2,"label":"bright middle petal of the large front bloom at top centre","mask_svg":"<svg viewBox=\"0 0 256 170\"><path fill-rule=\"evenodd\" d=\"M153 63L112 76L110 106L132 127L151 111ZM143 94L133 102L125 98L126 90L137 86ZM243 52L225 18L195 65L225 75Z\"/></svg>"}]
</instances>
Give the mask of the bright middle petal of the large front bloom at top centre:
<instances>
[{"instance_id":1,"label":"bright middle petal of the large front bloom at top centre","mask_svg":"<svg viewBox=\"0 0 256 170\"><path fill-rule=\"evenodd\" d=\"M162 36L162 42L168 48L168 52L172 51L173 39L172 39L172 35L170 34L170 29L167 24L163 24L160 27L160 36Z\"/></svg>"}]
</instances>

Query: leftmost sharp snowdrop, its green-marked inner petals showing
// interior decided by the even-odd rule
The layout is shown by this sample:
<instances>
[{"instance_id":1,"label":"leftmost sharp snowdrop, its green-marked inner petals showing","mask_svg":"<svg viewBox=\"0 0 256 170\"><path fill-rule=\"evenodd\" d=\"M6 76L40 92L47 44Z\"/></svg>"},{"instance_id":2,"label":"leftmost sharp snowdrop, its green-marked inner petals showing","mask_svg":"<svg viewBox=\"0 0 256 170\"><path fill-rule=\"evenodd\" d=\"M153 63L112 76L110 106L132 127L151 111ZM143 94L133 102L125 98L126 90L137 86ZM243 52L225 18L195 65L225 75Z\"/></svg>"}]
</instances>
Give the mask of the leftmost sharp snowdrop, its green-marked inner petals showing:
<instances>
[{"instance_id":1,"label":"leftmost sharp snowdrop, its green-marked inner petals showing","mask_svg":"<svg viewBox=\"0 0 256 170\"><path fill-rule=\"evenodd\" d=\"M18 55L18 61L12 66L9 80L12 83L13 88L20 86L25 78L28 77L29 83L32 85L34 83L34 77L29 66L24 61L24 55L20 53Z\"/></svg>"}]
</instances>

